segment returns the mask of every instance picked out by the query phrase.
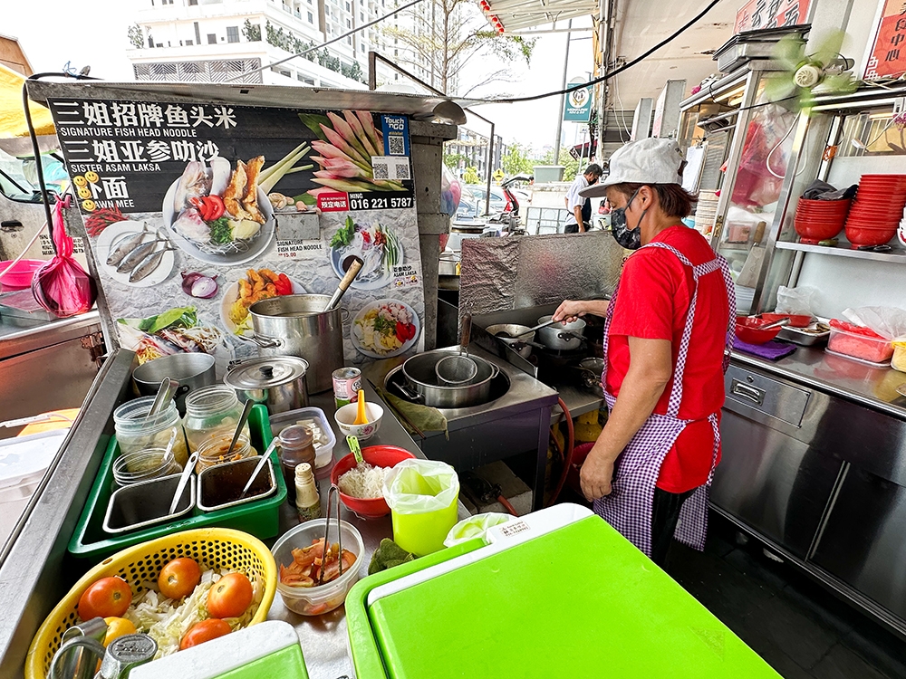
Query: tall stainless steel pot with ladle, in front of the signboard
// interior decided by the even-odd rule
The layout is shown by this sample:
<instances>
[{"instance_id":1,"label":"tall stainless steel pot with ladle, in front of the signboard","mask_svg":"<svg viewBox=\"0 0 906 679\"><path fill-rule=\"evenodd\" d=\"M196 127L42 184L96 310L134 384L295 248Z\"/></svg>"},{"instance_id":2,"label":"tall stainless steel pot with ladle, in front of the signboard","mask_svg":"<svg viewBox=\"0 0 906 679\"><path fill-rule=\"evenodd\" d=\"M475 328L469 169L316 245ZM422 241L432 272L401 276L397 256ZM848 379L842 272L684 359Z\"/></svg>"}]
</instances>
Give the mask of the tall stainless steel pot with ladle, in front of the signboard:
<instances>
[{"instance_id":1,"label":"tall stainless steel pot with ladle, in front of the signboard","mask_svg":"<svg viewBox=\"0 0 906 679\"><path fill-rule=\"evenodd\" d=\"M324 311L327 295L284 295L256 301L252 338L261 356L297 356L308 361L308 393L333 387L331 374L343 367L342 323L345 309Z\"/></svg>"}]
</instances>

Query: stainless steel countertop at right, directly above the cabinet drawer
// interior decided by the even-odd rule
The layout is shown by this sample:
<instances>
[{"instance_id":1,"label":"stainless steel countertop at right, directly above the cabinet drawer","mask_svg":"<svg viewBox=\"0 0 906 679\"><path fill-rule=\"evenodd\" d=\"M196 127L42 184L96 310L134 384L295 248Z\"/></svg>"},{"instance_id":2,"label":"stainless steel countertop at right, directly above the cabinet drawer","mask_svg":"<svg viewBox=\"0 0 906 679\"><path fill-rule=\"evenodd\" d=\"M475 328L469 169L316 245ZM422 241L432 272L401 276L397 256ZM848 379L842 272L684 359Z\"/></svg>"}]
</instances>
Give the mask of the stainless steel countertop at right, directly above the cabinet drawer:
<instances>
[{"instance_id":1,"label":"stainless steel countertop at right, directly above the cabinet drawer","mask_svg":"<svg viewBox=\"0 0 906 679\"><path fill-rule=\"evenodd\" d=\"M739 351L733 352L733 359L906 420L906 397L897 393L897 387L906 384L906 373L893 368L872 368L825 353L824 349L807 347L799 347L794 354L778 361Z\"/></svg>"}]
</instances>

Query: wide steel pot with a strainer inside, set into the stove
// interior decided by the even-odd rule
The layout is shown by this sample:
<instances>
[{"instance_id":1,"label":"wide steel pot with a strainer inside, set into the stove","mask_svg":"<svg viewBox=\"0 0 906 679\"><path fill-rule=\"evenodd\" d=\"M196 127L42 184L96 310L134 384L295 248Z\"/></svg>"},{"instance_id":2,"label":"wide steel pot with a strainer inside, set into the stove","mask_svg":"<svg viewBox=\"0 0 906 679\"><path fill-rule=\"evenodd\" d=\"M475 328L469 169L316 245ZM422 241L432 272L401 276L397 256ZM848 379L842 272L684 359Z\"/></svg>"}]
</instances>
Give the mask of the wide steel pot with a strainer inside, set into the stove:
<instances>
[{"instance_id":1,"label":"wide steel pot with a strainer inside, set into the stove","mask_svg":"<svg viewBox=\"0 0 906 679\"><path fill-rule=\"evenodd\" d=\"M491 381L496 378L500 368L485 359L469 356L475 361L477 373L464 385L441 384L434 369L440 359L458 356L458 351L438 349L416 354L402 364L402 374L406 385L393 382L407 398L418 401L425 406L435 408L464 408L487 403L491 395Z\"/></svg>"}]
</instances>

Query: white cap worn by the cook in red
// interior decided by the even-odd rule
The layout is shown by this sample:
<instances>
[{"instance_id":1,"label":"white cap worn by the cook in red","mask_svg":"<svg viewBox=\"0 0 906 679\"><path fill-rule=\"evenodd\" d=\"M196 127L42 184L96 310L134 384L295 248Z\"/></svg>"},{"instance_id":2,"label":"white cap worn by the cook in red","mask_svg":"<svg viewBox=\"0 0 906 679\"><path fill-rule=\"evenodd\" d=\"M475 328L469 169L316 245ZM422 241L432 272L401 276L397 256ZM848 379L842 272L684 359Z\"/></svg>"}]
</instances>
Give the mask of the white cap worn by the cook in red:
<instances>
[{"instance_id":1,"label":"white cap worn by the cook in red","mask_svg":"<svg viewBox=\"0 0 906 679\"><path fill-rule=\"evenodd\" d=\"M605 196L614 184L681 184L683 156L676 139L650 137L631 141L613 152L610 174L583 188L580 196Z\"/></svg>"}]
</instances>

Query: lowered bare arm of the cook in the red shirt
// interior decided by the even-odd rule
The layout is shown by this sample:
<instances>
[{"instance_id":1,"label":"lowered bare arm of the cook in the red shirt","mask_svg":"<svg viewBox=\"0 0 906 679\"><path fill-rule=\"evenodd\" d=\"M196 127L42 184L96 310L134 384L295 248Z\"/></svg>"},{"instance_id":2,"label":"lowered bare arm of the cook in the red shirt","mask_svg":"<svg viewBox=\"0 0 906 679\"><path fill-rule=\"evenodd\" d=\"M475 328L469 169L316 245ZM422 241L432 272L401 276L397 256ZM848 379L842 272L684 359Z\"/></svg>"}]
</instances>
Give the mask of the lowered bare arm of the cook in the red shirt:
<instances>
[{"instance_id":1,"label":"lowered bare arm of the cook in the red shirt","mask_svg":"<svg viewBox=\"0 0 906 679\"><path fill-rule=\"evenodd\" d=\"M654 412L673 374L670 339L629 338L630 363L607 424L582 465L589 500L611 493L613 464Z\"/></svg>"}]
</instances>

